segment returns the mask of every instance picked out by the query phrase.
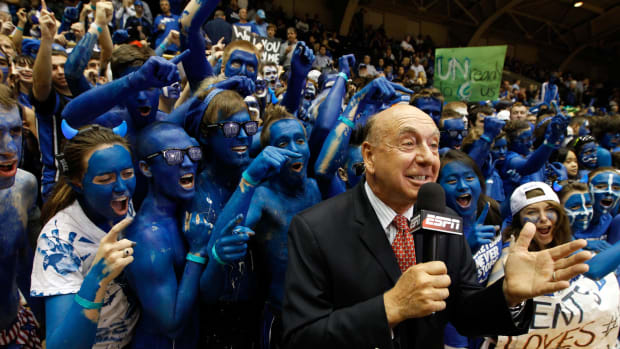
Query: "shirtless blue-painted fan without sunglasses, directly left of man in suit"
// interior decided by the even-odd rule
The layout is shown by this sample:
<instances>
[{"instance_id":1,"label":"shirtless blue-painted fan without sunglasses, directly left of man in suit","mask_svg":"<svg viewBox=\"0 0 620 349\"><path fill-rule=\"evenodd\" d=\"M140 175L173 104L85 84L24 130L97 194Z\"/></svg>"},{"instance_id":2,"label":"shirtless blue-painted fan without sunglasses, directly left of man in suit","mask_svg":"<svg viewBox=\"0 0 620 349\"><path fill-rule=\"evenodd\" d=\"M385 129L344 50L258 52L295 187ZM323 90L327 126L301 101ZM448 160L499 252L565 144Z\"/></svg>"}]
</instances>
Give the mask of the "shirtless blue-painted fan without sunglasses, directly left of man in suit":
<instances>
[{"instance_id":1,"label":"shirtless blue-painted fan without sunglasses, directly left of man in suit","mask_svg":"<svg viewBox=\"0 0 620 349\"><path fill-rule=\"evenodd\" d=\"M270 348L281 340L281 311L284 297L284 274L288 263L287 233L293 216L321 201L314 179L306 168L310 149L303 124L281 106L272 106L267 117L261 145L286 149L289 156L278 174L261 184L252 197L246 225L256 231L261 285L267 299L261 345Z\"/></svg>"}]
</instances>

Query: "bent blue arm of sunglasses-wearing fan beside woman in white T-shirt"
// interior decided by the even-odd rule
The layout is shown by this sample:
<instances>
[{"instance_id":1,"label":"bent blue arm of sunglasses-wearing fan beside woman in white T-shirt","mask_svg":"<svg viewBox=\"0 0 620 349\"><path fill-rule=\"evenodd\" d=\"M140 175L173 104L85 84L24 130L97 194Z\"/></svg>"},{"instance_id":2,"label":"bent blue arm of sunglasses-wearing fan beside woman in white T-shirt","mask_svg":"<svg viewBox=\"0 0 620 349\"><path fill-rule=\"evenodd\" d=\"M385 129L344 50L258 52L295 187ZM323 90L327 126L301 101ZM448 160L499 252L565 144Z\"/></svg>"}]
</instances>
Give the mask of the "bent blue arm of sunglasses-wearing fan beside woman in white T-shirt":
<instances>
[{"instance_id":1,"label":"bent blue arm of sunglasses-wearing fan beside woman in white T-shirt","mask_svg":"<svg viewBox=\"0 0 620 349\"><path fill-rule=\"evenodd\" d=\"M186 260L183 275L177 283L173 256L153 253L163 247L160 241L136 240L135 260L127 267L126 275L140 299L142 316L151 320L150 326L169 338L175 338L191 318L189 314L196 303L204 266Z\"/></svg>"}]
</instances>

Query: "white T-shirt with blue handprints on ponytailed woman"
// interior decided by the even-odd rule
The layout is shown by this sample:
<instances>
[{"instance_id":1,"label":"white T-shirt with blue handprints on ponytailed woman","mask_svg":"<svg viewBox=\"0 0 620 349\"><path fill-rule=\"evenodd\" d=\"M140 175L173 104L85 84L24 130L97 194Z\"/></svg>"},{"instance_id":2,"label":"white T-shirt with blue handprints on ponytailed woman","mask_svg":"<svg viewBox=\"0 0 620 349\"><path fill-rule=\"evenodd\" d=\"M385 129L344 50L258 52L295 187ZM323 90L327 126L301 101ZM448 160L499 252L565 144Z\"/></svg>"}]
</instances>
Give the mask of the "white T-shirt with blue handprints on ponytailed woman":
<instances>
[{"instance_id":1,"label":"white T-shirt with blue handprints on ponytailed woman","mask_svg":"<svg viewBox=\"0 0 620 349\"><path fill-rule=\"evenodd\" d=\"M30 295L77 293L105 234L86 217L77 200L58 212L45 224L37 240ZM123 348L131 341L140 311L137 302L130 302L121 283L126 285L116 278L106 289L93 348Z\"/></svg>"}]
</instances>

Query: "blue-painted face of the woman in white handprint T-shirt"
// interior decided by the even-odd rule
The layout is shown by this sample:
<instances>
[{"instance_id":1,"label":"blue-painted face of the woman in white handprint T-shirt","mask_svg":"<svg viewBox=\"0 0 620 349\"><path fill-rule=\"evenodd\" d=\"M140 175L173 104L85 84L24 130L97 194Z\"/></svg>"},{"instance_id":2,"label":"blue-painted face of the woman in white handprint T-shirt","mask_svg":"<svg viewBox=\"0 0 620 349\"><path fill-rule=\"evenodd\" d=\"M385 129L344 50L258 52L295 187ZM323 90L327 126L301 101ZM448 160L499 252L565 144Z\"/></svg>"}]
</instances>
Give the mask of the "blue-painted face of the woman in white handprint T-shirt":
<instances>
[{"instance_id":1,"label":"blue-painted face of the woman in white handprint T-shirt","mask_svg":"<svg viewBox=\"0 0 620 349\"><path fill-rule=\"evenodd\" d=\"M108 221L122 219L136 188L131 154L119 144L103 145L88 159L81 184L81 202L86 205L86 212Z\"/></svg>"}]
</instances>

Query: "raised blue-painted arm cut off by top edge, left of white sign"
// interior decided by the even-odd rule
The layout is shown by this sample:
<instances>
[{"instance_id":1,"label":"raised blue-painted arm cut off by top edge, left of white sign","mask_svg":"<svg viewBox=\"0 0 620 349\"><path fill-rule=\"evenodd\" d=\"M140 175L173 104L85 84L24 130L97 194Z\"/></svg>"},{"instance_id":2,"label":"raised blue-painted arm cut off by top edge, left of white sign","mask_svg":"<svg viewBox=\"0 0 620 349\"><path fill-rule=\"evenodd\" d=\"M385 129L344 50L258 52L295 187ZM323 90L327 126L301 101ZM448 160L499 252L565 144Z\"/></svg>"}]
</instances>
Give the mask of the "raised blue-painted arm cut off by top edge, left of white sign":
<instances>
[{"instance_id":1,"label":"raised blue-painted arm cut off by top edge, left of white sign","mask_svg":"<svg viewBox=\"0 0 620 349\"><path fill-rule=\"evenodd\" d=\"M219 2L219 0L192 0L181 15L181 50L190 50L183 68L192 92L198 89L202 80L215 75L205 56L205 41L200 34L200 27L215 11Z\"/></svg>"}]
</instances>

